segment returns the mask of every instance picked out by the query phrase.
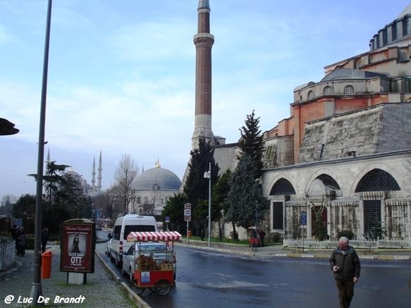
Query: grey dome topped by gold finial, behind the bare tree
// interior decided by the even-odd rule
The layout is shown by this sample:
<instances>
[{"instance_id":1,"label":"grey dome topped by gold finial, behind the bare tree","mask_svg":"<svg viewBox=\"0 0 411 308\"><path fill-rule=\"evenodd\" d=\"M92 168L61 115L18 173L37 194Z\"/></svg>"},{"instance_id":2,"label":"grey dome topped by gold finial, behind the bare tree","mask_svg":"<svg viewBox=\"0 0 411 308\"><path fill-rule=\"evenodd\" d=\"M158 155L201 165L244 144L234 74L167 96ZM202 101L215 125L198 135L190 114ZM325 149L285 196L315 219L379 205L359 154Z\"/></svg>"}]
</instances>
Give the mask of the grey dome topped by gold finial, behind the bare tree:
<instances>
[{"instance_id":1,"label":"grey dome topped by gold finial, behind the bare tree","mask_svg":"<svg viewBox=\"0 0 411 308\"><path fill-rule=\"evenodd\" d=\"M156 163L155 168L151 168L138 175L134 179L134 190L179 190L182 181L170 170L161 168Z\"/></svg>"}]
</instances>

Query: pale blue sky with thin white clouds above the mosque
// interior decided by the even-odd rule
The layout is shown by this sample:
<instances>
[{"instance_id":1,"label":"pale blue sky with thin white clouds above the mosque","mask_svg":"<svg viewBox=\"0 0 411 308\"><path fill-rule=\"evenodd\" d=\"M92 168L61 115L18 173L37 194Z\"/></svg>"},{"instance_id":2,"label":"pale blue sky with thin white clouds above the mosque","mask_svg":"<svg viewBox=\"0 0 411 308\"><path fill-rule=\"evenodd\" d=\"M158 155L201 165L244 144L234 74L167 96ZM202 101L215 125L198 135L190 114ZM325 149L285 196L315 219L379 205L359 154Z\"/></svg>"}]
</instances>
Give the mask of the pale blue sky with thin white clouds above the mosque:
<instances>
[{"instance_id":1,"label":"pale blue sky with thin white clouds above the mosque","mask_svg":"<svg viewBox=\"0 0 411 308\"><path fill-rule=\"evenodd\" d=\"M121 157L182 179L195 113L198 0L54 0L45 157L102 188ZM212 131L237 142L248 114L267 131L290 116L293 90L369 51L411 1L210 0ZM0 0L0 201L35 194L47 0ZM97 181L97 175L96 175Z\"/></svg>"}]
</instances>

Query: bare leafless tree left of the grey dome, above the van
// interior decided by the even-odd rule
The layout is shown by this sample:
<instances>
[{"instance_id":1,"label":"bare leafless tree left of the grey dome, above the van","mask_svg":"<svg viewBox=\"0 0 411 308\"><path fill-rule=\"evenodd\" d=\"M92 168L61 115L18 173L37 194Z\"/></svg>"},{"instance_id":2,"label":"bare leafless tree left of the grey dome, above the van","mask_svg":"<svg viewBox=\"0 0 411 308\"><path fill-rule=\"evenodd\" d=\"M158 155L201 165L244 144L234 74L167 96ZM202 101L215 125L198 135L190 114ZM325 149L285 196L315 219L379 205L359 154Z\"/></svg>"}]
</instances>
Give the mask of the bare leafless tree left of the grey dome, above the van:
<instances>
[{"instance_id":1,"label":"bare leafless tree left of the grey dome, above the van","mask_svg":"<svg viewBox=\"0 0 411 308\"><path fill-rule=\"evenodd\" d=\"M129 212L128 207L133 197L132 185L137 175L138 168L134 164L134 159L129 154L123 154L114 175L114 195L123 206L125 214Z\"/></svg>"}]
</instances>

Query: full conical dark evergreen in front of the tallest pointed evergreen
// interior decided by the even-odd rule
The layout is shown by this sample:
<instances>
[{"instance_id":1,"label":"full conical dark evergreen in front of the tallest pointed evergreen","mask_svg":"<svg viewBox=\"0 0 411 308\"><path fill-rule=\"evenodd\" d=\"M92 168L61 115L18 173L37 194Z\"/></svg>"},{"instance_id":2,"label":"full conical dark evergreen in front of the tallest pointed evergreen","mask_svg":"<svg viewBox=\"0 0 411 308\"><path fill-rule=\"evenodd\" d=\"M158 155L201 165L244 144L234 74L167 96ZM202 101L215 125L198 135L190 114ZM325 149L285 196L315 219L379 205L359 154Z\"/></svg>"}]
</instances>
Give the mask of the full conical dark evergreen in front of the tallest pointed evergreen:
<instances>
[{"instance_id":1,"label":"full conical dark evergreen in front of the tallest pointed evergreen","mask_svg":"<svg viewBox=\"0 0 411 308\"><path fill-rule=\"evenodd\" d=\"M262 196L261 185L251 170L254 170L253 160L245 153L229 181L227 194L225 219L232 222L234 228L236 225L243 228L253 226L264 218L269 208L269 200Z\"/></svg>"}]
</instances>

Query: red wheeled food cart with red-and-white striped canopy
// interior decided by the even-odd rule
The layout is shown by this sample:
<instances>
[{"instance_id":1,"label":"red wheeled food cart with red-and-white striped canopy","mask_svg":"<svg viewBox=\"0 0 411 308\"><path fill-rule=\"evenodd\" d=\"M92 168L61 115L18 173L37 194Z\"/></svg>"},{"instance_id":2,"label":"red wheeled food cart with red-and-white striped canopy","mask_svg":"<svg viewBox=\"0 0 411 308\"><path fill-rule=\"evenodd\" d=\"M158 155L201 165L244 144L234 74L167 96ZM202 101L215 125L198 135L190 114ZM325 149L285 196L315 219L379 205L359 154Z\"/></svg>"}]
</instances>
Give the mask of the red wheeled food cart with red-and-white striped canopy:
<instances>
[{"instance_id":1,"label":"red wheeled food cart with red-and-white striped canopy","mask_svg":"<svg viewBox=\"0 0 411 308\"><path fill-rule=\"evenodd\" d=\"M159 295L169 294L175 285L174 242L182 235L175 231L130 232L127 242L134 242L134 274L130 287L140 295L146 288ZM163 249L145 249L143 242L166 242ZM131 274L131 273L130 273Z\"/></svg>"}]
</instances>

